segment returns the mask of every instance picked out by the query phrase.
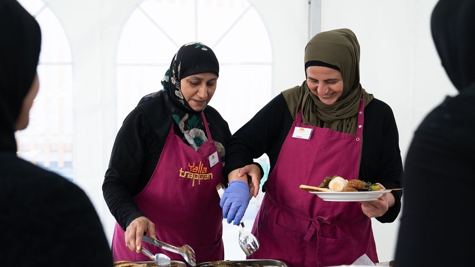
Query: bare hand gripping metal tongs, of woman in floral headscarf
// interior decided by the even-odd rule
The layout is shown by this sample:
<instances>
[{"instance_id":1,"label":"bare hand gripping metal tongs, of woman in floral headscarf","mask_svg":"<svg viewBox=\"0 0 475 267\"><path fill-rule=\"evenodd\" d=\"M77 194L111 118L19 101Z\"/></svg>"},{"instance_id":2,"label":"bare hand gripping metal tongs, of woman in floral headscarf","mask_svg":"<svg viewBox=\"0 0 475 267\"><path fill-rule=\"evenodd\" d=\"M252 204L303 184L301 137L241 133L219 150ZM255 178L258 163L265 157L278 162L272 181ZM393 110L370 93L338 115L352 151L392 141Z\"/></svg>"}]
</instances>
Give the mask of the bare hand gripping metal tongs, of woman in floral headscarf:
<instances>
[{"instance_id":1,"label":"bare hand gripping metal tongs, of woman in floral headscarf","mask_svg":"<svg viewBox=\"0 0 475 267\"><path fill-rule=\"evenodd\" d=\"M125 245L132 251L140 253L142 248L142 236L145 232L151 238L156 239L155 224L147 217L138 217L133 220L125 231Z\"/></svg>"}]
</instances>

